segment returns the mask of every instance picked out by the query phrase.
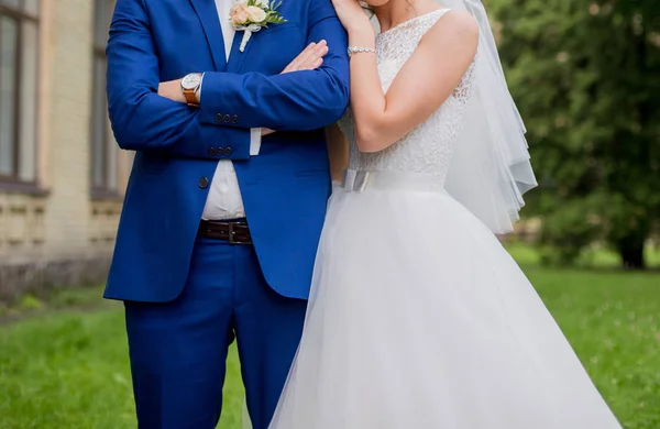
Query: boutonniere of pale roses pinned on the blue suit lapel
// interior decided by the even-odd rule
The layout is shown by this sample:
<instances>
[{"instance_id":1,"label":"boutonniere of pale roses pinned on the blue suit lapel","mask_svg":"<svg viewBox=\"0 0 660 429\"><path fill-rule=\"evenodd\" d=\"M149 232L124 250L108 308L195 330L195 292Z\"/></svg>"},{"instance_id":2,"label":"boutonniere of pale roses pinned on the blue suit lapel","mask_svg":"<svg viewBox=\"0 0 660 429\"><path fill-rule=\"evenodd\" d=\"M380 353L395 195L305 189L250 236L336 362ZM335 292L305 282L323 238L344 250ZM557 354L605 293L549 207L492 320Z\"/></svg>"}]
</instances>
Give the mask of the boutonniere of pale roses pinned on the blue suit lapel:
<instances>
[{"instance_id":1,"label":"boutonniere of pale roses pinned on the blue suit lapel","mask_svg":"<svg viewBox=\"0 0 660 429\"><path fill-rule=\"evenodd\" d=\"M268 3L266 0L237 0L229 13L229 20L237 31L243 32L240 51L245 50L252 33L261 29L267 29L268 24L282 24L286 22L277 9L282 6L275 1Z\"/></svg>"}]
</instances>

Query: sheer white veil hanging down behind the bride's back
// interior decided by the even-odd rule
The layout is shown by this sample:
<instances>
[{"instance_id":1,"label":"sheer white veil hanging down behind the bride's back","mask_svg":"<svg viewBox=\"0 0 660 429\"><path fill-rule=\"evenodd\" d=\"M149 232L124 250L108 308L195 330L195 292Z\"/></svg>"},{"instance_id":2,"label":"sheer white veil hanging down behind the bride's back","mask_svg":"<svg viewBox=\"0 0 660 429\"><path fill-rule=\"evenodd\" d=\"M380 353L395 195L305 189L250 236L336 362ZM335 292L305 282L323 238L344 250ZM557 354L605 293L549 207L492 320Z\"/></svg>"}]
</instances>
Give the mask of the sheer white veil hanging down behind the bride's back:
<instances>
[{"instance_id":1,"label":"sheer white veil hanging down behind the bride's back","mask_svg":"<svg viewBox=\"0 0 660 429\"><path fill-rule=\"evenodd\" d=\"M495 37L481 0L438 0L471 12L480 26L474 92L446 183L447 191L495 233L513 230L537 186L525 124L508 91Z\"/></svg>"}]
</instances>

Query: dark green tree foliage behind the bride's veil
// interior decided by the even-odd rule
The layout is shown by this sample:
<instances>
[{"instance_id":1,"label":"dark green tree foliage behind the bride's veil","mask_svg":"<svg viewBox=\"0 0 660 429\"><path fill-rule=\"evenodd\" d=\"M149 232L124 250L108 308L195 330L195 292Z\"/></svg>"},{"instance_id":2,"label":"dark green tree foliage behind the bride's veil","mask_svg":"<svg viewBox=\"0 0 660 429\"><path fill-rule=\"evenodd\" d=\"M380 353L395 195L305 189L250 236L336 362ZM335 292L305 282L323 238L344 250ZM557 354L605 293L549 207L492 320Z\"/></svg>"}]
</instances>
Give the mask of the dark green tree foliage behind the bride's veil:
<instances>
[{"instance_id":1,"label":"dark green tree foliage behind the bride's veil","mask_svg":"<svg viewBox=\"0 0 660 429\"><path fill-rule=\"evenodd\" d=\"M660 1L486 0L540 187L541 241L628 267L660 222Z\"/></svg>"}]
</instances>

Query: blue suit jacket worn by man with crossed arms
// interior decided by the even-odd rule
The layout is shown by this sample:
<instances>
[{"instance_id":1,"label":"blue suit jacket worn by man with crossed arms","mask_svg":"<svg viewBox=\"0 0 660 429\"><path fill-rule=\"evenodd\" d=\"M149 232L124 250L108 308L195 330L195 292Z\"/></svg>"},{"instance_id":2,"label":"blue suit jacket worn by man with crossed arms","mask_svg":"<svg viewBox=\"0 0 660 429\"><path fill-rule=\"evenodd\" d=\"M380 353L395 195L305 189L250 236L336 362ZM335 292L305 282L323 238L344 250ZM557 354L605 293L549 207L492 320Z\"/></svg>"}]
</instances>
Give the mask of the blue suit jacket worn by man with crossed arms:
<instances>
[{"instance_id":1,"label":"blue suit jacket worn by man with crossed arms","mask_svg":"<svg viewBox=\"0 0 660 429\"><path fill-rule=\"evenodd\" d=\"M106 297L162 302L180 294L205 185L218 160L230 158L266 280L307 298L330 193L322 127L349 102L346 35L330 0L284 0L280 12L287 22L255 33L242 53L237 32L227 63L213 0L118 0L110 120L119 145L136 155ZM322 67L279 74L320 40L330 47ZM160 81L193 72L206 73L199 108L157 95ZM250 129L260 127L277 132L251 157Z\"/></svg>"}]
</instances>

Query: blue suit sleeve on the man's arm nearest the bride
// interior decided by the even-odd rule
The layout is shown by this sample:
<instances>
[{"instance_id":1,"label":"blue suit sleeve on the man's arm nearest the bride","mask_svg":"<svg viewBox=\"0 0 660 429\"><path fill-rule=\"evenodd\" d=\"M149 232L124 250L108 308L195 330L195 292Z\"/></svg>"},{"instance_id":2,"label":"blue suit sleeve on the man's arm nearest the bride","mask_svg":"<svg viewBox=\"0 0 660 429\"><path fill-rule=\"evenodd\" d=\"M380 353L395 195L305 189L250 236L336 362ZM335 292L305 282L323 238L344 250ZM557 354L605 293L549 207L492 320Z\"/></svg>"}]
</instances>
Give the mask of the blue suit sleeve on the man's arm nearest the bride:
<instances>
[{"instance_id":1,"label":"blue suit sleeve on the man's arm nearest the bride","mask_svg":"<svg viewBox=\"0 0 660 429\"><path fill-rule=\"evenodd\" d=\"M330 0L309 3L307 42L328 42L323 65L276 76L206 73L200 107L204 123L308 131L333 123L343 114L349 103L346 33ZM221 121L226 114L233 121Z\"/></svg>"}]
</instances>

